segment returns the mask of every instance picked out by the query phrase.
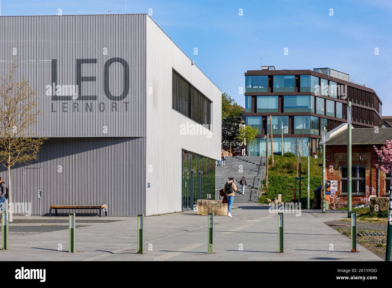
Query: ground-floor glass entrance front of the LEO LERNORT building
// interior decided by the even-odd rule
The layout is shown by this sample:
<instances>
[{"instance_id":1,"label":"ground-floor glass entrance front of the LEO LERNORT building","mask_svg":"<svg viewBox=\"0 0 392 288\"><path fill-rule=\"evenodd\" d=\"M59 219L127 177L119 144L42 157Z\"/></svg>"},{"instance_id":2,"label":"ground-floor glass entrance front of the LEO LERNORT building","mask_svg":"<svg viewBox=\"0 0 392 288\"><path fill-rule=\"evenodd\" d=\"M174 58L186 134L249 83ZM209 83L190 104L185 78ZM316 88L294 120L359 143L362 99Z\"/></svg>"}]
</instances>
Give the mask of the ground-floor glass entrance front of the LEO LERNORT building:
<instances>
[{"instance_id":1,"label":"ground-floor glass entrance front of the LEO LERNORT building","mask_svg":"<svg viewBox=\"0 0 392 288\"><path fill-rule=\"evenodd\" d=\"M215 199L215 160L182 150L183 210L193 210L198 199Z\"/></svg>"}]
</instances>

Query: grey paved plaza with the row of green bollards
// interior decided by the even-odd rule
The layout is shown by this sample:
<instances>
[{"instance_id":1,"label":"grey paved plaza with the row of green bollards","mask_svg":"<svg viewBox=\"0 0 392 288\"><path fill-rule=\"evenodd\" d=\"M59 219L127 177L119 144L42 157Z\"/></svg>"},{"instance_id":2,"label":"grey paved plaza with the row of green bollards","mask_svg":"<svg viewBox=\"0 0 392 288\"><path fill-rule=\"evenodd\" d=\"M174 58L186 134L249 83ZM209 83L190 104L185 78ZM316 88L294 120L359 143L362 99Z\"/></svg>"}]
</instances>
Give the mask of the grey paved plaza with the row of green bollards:
<instances>
[{"instance_id":1,"label":"grey paved plaza with the row of green bollards","mask_svg":"<svg viewBox=\"0 0 392 288\"><path fill-rule=\"evenodd\" d=\"M65 222L68 217L14 216L29 221L10 223L9 250L0 251L0 256L6 261L382 261L360 245L357 253L351 253L350 239L323 223L343 219L347 211L321 214L318 210L302 210L301 216L285 214L281 254L277 253L278 214L269 213L268 205L239 205L232 214L231 218L214 216L214 254L207 254L207 216L189 211L144 217L142 255L136 253L136 217L76 217L76 226L82 225L76 228L76 250L82 252L71 254L68 221ZM41 222L34 223L35 220ZM48 223L42 223L46 220ZM34 231L29 226L58 229L61 225L64 230L29 232Z\"/></svg>"}]
</instances>

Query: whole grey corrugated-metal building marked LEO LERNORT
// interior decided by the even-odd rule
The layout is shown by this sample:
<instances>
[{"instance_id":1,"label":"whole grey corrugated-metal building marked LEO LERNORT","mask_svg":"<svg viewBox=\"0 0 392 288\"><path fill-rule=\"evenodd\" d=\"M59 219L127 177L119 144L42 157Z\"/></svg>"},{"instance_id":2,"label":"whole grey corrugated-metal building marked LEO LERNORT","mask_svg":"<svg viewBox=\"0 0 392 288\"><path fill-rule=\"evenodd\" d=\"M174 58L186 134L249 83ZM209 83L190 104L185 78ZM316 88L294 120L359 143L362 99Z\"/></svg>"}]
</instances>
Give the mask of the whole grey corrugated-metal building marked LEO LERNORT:
<instances>
[{"instance_id":1,"label":"whole grey corrugated-metal building marked LEO LERNORT","mask_svg":"<svg viewBox=\"0 0 392 288\"><path fill-rule=\"evenodd\" d=\"M16 205L154 215L214 194L221 91L147 14L2 16L0 34L0 74L18 64L49 138L12 169Z\"/></svg>"}]
</instances>

